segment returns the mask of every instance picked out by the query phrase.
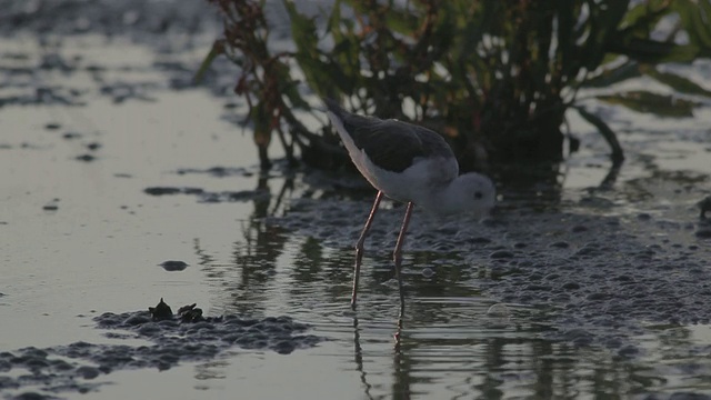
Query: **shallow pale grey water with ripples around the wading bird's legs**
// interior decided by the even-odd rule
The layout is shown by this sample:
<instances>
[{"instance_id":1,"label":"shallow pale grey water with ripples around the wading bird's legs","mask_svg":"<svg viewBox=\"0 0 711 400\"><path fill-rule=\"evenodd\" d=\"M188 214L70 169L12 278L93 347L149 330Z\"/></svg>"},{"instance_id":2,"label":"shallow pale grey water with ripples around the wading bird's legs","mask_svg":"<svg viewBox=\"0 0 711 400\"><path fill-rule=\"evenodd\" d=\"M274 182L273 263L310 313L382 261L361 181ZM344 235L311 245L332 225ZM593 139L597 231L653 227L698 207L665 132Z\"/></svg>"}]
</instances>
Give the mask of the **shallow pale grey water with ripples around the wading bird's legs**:
<instances>
[{"instance_id":1,"label":"shallow pale grey water with ripples around the wading bird's legs","mask_svg":"<svg viewBox=\"0 0 711 400\"><path fill-rule=\"evenodd\" d=\"M351 246L372 191L336 190L344 184L329 173L260 173L250 132L230 122L243 104L214 96L217 78L211 91L186 87L206 37L178 53L123 37L53 39L0 42L0 352L148 346L93 318L161 297L208 316L289 316L321 341L288 356L232 346L96 378L78 373L94 366L82 358L50 356L73 369L46 381L0 363L3 397L711 396L711 254L694 206L711 191L705 108L670 121L593 103L623 131L619 172L571 116L581 152L545 184L501 172L490 220L442 223L418 210L395 348L401 208L379 214L353 312ZM189 266L160 267L169 260Z\"/></svg>"}]
</instances>

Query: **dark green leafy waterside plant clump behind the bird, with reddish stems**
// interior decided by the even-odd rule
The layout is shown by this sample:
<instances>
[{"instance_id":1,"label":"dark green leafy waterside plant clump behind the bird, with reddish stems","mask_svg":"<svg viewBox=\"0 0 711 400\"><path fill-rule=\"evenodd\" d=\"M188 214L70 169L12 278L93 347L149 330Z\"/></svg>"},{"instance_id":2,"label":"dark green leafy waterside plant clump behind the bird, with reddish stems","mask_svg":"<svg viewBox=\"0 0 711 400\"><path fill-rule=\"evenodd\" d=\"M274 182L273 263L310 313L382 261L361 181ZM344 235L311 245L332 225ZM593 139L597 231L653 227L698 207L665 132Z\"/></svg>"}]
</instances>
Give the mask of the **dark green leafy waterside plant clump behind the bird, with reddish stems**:
<instances>
[{"instance_id":1,"label":"dark green leafy waterside plant clump behind the bird, with reddish stems","mask_svg":"<svg viewBox=\"0 0 711 400\"><path fill-rule=\"evenodd\" d=\"M463 170L488 159L561 160L569 109L604 137L613 163L622 162L614 131L577 101L582 88L647 76L678 94L711 96L659 68L709 57L709 0L336 0L319 16L283 0L296 50L279 52L269 46L264 0L208 1L224 17L224 31L199 74L219 54L240 67L234 91L249 104L246 122L263 167L273 134L292 162L294 147L313 166L346 158L328 129L317 134L300 122L296 112L326 123L304 88L343 99L352 111L441 132ZM695 106L647 90L599 99L669 117ZM568 137L574 150L578 141Z\"/></svg>"}]
</instances>

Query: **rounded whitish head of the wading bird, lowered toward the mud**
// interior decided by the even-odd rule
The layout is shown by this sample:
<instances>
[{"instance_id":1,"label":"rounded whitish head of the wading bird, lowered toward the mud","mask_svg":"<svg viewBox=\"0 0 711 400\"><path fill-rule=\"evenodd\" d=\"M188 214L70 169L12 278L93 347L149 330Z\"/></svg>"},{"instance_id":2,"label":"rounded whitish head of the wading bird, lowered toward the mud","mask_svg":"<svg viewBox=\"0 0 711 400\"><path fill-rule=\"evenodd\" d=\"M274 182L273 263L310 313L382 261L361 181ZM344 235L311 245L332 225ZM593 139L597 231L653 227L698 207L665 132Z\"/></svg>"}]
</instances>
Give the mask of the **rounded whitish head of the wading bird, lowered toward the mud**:
<instances>
[{"instance_id":1,"label":"rounded whitish head of the wading bird, lowered toward the mud","mask_svg":"<svg viewBox=\"0 0 711 400\"><path fill-rule=\"evenodd\" d=\"M485 176L477 172L461 174L448 188L451 212L471 213L477 218L489 214L497 201L497 190ZM447 208L447 207L445 207Z\"/></svg>"}]
</instances>

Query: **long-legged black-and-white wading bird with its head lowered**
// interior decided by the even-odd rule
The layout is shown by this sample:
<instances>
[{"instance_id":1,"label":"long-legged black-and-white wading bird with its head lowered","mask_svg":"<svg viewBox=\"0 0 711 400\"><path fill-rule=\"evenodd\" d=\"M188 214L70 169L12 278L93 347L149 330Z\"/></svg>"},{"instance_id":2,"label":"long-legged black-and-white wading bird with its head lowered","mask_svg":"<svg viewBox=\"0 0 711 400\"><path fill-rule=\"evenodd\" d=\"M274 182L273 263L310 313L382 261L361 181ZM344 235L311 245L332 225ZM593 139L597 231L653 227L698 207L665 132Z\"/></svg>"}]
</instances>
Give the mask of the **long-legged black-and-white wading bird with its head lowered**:
<instances>
[{"instance_id":1,"label":"long-legged black-and-white wading bird with its head lowered","mask_svg":"<svg viewBox=\"0 0 711 400\"><path fill-rule=\"evenodd\" d=\"M459 173L454 152L439 133L395 119L379 119L346 111L323 99L327 116L360 173L377 190L375 201L356 243L356 267L351 308L356 309L363 243L383 196L407 203L392 253L400 291L400 319L404 314L402 244L417 204L439 216L488 214L495 204L495 188L487 176Z\"/></svg>"}]
</instances>

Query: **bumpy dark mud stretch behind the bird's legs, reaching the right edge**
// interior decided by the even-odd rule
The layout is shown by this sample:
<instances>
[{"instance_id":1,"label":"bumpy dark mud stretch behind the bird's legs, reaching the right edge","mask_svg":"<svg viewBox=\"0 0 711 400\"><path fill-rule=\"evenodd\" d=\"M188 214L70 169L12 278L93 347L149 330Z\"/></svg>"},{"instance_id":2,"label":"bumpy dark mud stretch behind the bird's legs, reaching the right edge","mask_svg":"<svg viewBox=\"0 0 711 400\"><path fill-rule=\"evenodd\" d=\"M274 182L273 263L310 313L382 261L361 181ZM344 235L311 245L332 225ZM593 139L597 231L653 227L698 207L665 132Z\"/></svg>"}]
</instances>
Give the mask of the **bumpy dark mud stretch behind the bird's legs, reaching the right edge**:
<instances>
[{"instance_id":1,"label":"bumpy dark mud stretch behind the bird's legs, reaching the right edge","mask_svg":"<svg viewBox=\"0 0 711 400\"><path fill-rule=\"evenodd\" d=\"M408 262L408 253L455 254L460 268L475 271L480 279L472 284L488 296L545 310L551 328L545 338L634 357L642 351L634 338L645 333L645 324L711 322L711 242L704 239L711 221L679 198L680 207L667 216L604 216L587 206L591 198L567 207L578 212L504 200L481 222L441 220L419 210L405 239L404 273L438 271L435 264ZM378 212L365 241L365 253L374 257L369 268L392 270L390 252L404 212L392 206ZM365 201L301 199L268 221L348 248L369 209Z\"/></svg>"}]
</instances>

